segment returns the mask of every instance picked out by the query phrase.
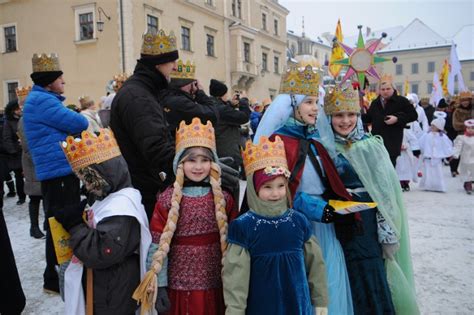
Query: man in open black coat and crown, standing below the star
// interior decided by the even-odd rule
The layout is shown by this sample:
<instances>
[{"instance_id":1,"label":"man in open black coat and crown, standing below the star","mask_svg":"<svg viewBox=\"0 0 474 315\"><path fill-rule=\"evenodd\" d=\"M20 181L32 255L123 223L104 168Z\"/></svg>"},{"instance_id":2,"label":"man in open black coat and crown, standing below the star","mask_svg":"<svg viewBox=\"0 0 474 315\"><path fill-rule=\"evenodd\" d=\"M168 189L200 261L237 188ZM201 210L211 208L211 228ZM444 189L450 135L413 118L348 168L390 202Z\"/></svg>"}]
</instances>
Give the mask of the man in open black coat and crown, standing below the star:
<instances>
[{"instance_id":1,"label":"man in open black coat and crown, standing below the star","mask_svg":"<svg viewBox=\"0 0 474 315\"><path fill-rule=\"evenodd\" d=\"M402 148L403 128L417 118L415 108L397 94L388 75L380 80L380 95L370 104L367 114L362 115L364 123L372 124L372 134L382 137L393 166Z\"/></svg>"}]
</instances>

